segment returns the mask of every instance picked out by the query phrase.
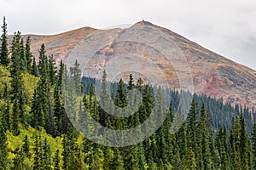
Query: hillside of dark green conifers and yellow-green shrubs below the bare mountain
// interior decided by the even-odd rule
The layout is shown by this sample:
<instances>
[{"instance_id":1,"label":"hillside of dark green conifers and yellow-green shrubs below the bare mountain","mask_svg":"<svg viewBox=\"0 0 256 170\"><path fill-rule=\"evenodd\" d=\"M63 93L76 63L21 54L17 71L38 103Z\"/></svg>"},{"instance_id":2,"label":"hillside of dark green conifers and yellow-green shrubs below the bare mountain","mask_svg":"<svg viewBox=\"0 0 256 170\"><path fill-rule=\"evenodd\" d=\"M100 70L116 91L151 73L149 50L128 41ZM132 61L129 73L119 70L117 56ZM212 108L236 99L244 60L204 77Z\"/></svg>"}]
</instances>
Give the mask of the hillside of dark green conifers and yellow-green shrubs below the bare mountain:
<instances>
[{"instance_id":1,"label":"hillside of dark green conifers and yellow-green shrubs below the bare mountain","mask_svg":"<svg viewBox=\"0 0 256 170\"><path fill-rule=\"evenodd\" d=\"M55 65L42 44L36 63L30 51L30 37L15 32L8 44L7 25L2 26L0 49L0 169L254 169L256 167L256 126L247 106L224 104L221 99L192 95L171 89L154 88L141 79L123 80L106 91L108 73L102 80L81 79L79 63L68 71ZM110 116L99 105L95 82L101 81L101 97L121 108L128 105L128 90L142 94L138 111L128 118ZM64 82L64 83L63 83ZM66 92L65 83L73 82ZM82 82L82 83L81 83ZM83 86L82 86L83 85ZM82 88L81 88L82 86ZM81 89L84 93L81 94ZM102 126L123 130L145 122L154 109L155 95L168 94L158 112L166 120L148 139L131 146L108 147L86 139L71 122L83 122L88 111ZM66 105L64 99L79 95L83 102ZM181 115L179 98L193 97L186 121L177 133L170 133L173 120ZM107 101L107 100L106 100ZM108 103L108 102L106 102ZM78 107L73 117L67 108ZM118 111L117 111L118 112ZM247 128L249 127L249 128ZM150 128L150 127L148 127ZM251 133L252 132L252 133ZM97 133L101 136L104 132ZM249 137L251 136L251 137Z\"/></svg>"}]
</instances>

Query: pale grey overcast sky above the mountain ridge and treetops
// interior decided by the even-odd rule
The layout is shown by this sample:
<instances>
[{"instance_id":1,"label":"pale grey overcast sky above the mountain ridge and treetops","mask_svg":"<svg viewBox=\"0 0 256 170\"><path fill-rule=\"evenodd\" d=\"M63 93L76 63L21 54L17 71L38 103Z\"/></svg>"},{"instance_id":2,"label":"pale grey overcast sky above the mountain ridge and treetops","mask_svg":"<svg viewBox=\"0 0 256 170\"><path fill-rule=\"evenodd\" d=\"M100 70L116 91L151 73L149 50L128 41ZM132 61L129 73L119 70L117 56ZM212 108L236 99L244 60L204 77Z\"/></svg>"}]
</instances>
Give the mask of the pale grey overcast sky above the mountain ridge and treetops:
<instances>
[{"instance_id":1,"label":"pale grey overcast sky above the mountain ridge and treetops","mask_svg":"<svg viewBox=\"0 0 256 170\"><path fill-rule=\"evenodd\" d=\"M9 34L55 34L148 20L256 70L253 0L0 0Z\"/></svg>"}]
</instances>

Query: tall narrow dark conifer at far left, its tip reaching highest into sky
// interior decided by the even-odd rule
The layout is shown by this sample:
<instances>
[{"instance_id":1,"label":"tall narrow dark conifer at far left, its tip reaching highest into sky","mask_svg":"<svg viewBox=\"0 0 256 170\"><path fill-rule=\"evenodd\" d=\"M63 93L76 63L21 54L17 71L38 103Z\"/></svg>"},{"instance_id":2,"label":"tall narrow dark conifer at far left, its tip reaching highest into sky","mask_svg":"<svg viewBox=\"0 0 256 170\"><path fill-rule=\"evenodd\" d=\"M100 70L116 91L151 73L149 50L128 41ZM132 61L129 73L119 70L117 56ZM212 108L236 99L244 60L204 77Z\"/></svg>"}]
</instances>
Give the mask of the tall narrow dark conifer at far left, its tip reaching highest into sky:
<instances>
[{"instance_id":1,"label":"tall narrow dark conifer at far left, its tip reaching highest into sky","mask_svg":"<svg viewBox=\"0 0 256 170\"><path fill-rule=\"evenodd\" d=\"M1 46L0 46L0 65L9 65L9 49L8 49L8 35L7 35L7 24L5 22L5 16L3 17L3 34L1 36Z\"/></svg>"}]
</instances>

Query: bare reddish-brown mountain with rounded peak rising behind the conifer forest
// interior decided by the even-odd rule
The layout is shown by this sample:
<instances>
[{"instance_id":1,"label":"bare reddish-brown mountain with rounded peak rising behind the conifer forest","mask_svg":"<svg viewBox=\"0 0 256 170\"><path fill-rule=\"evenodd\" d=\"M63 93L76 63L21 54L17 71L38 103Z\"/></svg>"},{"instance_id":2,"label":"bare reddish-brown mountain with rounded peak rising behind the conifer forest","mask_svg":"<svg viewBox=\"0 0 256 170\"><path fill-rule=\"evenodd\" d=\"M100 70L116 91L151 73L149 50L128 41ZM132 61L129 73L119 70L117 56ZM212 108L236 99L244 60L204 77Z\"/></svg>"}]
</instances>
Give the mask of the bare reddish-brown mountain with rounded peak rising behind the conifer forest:
<instances>
[{"instance_id":1,"label":"bare reddish-brown mountain with rounded peak rising behind the conifer forest","mask_svg":"<svg viewBox=\"0 0 256 170\"><path fill-rule=\"evenodd\" d=\"M145 37L144 43L134 41L134 39L141 41L141 37L145 34L152 37L148 36L148 40ZM143 71L155 77L155 80L157 79L160 84L167 81L171 82L173 88L179 88L177 77L180 78L180 75L177 74L177 71L180 70L182 72L183 70L180 65L176 65L175 62L171 66L166 65L167 60L161 54L161 51L157 51L154 47L145 44L147 41L153 41L153 37L158 37L158 41L162 41L158 45L170 47L168 43L171 44L172 42L174 45L171 45L172 48L170 49L178 48L178 53L187 60L196 94L207 94L215 98L223 98L224 101L230 101L231 104L238 103L256 107L256 71L226 59L207 48L203 48L173 31L155 26L147 21L138 22L126 29L97 30L84 27L52 36L29 36L32 37L32 53L36 57L38 56L40 45L44 43L47 54L53 54L57 63L64 59L72 61L73 64L74 58L78 58L79 61L87 61L85 68L87 76L99 78L101 77L100 72L106 66L110 65L109 67L112 66L112 69L118 70L119 65L123 65L123 63L129 67L134 63L143 63L143 59L150 59L153 62L153 66L145 66ZM133 42L126 41L130 39ZM102 42L106 45L97 47L98 49L92 54L84 52L95 42ZM93 48L97 45L93 44ZM166 50L166 48L163 48L163 50ZM129 53L131 56L128 56ZM120 54L125 54L125 57L119 59L118 55ZM154 65L157 65L160 71L164 72L164 75L169 76L161 77L159 70L154 69ZM126 71L122 75L116 75L113 78L118 80L119 77L127 77L128 74L129 71ZM138 73L137 77L143 77L143 74ZM147 82L147 77L143 78Z\"/></svg>"}]
</instances>

